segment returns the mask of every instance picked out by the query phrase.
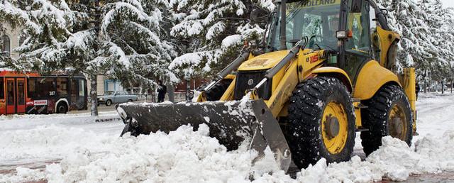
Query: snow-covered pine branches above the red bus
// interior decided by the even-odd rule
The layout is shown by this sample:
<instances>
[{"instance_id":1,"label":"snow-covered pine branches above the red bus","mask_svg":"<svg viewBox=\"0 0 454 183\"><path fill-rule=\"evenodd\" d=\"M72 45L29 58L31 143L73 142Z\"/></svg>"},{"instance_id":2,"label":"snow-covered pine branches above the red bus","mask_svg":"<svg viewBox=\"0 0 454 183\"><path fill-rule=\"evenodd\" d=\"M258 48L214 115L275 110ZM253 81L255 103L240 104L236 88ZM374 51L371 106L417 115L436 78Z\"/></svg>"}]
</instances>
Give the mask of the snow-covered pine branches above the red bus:
<instances>
[{"instance_id":1,"label":"snow-covered pine branches above the red bus","mask_svg":"<svg viewBox=\"0 0 454 183\"><path fill-rule=\"evenodd\" d=\"M17 49L19 60L10 63L17 70L33 69L40 72L59 70L65 65L62 43L70 35L78 13L71 11L65 1L2 0L0 21L26 28L28 39ZM44 63L52 64L45 65Z\"/></svg>"}]
</instances>

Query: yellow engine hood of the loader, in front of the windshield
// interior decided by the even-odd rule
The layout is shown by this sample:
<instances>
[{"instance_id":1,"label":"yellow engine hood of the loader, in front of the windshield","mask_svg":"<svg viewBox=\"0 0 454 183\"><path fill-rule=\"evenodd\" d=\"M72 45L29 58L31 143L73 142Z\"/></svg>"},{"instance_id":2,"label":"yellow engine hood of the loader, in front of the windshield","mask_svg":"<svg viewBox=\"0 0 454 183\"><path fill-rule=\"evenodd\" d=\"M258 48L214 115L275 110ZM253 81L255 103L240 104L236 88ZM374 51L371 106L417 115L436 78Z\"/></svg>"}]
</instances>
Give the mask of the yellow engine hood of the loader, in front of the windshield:
<instances>
[{"instance_id":1,"label":"yellow engine hood of the loader, in front of the windshield","mask_svg":"<svg viewBox=\"0 0 454 183\"><path fill-rule=\"evenodd\" d=\"M277 65L288 53L289 50L282 50L258 55L243 62L238 67L238 71L269 70Z\"/></svg>"}]
</instances>

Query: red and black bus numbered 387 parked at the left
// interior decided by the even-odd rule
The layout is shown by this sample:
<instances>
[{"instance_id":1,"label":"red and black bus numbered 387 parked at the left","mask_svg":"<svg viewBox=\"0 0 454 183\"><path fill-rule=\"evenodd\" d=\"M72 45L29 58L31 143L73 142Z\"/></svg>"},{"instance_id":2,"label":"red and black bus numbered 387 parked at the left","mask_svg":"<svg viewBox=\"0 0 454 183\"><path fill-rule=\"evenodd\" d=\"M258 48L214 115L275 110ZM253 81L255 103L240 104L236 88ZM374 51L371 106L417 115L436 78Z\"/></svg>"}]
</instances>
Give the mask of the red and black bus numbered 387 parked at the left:
<instances>
[{"instance_id":1,"label":"red and black bus numbered 387 parked at the left","mask_svg":"<svg viewBox=\"0 0 454 183\"><path fill-rule=\"evenodd\" d=\"M0 115L66 113L87 109L83 75L47 75L0 71Z\"/></svg>"}]
</instances>

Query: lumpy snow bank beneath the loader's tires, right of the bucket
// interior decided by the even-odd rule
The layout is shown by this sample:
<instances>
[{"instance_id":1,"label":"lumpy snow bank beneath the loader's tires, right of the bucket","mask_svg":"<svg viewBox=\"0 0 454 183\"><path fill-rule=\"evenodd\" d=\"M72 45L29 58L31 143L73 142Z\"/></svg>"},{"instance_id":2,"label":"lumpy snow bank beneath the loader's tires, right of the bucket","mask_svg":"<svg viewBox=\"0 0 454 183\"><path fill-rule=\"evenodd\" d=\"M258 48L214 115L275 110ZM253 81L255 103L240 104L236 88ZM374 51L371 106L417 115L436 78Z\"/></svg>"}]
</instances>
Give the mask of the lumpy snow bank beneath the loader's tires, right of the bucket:
<instances>
[{"instance_id":1,"label":"lumpy snow bank beneath the loader's tires, right of the bucket","mask_svg":"<svg viewBox=\"0 0 454 183\"><path fill-rule=\"evenodd\" d=\"M404 181L411 174L441 173L454 170L454 131L447 131L442 139L426 136L416 141L414 148L396 138L385 137L382 147L365 161L354 156L349 162L316 165L301 170L298 182L372 182L382 177Z\"/></svg>"}]
</instances>

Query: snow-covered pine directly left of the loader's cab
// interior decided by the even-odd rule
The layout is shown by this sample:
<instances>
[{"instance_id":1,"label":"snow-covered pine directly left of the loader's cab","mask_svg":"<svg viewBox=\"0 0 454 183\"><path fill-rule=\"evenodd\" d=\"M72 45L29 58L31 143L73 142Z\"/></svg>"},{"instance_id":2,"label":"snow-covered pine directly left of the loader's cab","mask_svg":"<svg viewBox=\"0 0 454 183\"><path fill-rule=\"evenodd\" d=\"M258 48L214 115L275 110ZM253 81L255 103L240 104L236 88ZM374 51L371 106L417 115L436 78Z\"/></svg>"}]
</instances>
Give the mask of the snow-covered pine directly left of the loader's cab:
<instances>
[{"instance_id":1,"label":"snow-covered pine directly left of the loader's cab","mask_svg":"<svg viewBox=\"0 0 454 183\"><path fill-rule=\"evenodd\" d=\"M252 7L274 9L271 0L170 0L171 35L184 55L170 64L186 79L218 72L238 57L243 40L260 40L264 27L250 23Z\"/></svg>"}]
</instances>

